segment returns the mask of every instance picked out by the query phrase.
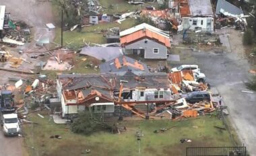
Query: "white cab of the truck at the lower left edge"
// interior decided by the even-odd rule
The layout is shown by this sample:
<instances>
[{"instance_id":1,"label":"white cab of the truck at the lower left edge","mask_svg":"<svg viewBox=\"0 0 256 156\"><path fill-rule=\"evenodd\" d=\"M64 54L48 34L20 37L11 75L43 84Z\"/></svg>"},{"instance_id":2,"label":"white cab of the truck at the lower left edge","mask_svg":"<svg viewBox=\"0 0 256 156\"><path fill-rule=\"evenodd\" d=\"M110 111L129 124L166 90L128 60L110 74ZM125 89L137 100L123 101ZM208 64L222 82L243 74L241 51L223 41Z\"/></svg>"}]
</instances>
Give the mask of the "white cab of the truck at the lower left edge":
<instances>
[{"instance_id":1,"label":"white cab of the truck at the lower left edge","mask_svg":"<svg viewBox=\"0 0 256 156\"><path fill-rule=\"evenodd\" d=\"M21 133L18 114L3 114L1 119L4 135L19 135Z\"/></svg>"}]
</instances>

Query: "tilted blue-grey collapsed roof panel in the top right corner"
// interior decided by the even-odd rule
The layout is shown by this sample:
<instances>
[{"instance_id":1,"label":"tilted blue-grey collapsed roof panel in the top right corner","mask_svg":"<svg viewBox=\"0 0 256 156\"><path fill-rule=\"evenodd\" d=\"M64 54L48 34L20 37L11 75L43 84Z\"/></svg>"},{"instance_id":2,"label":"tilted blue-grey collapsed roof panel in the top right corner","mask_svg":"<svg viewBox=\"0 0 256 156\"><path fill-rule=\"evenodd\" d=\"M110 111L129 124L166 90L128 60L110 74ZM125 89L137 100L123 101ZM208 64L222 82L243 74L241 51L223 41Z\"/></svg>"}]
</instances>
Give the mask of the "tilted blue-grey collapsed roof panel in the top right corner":
<instances>
[{"instance_id":1,"label":"tilted blue-grey collapsed roof panel in the top right corner","mask_svg":"<svg viewBox=\"0 0 256 156\"><path fill-rule=\"evenodd\" d=\"M228 12L232 15L241 15L243 14L243 10L235 5L232 5L228 1L225 0L218 0L217 7L216 7L216 14L219 15L220 13Z\"/></svg>"}]
</instances>

